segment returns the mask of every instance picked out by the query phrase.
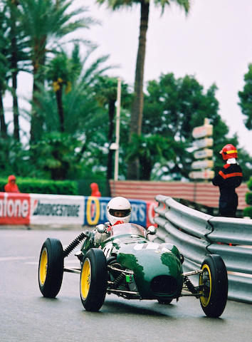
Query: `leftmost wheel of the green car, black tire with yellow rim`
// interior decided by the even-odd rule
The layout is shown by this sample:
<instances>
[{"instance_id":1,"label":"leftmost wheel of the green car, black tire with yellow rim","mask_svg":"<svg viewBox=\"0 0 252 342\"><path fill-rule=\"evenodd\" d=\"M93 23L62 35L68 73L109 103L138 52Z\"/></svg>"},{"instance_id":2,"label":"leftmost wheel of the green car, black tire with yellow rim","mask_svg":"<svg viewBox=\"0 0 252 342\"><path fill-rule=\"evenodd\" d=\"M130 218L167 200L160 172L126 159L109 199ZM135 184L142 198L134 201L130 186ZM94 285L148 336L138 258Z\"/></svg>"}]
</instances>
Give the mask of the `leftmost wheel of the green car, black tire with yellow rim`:
<instances>
[{"instance_id":1,"label":"leftmost wheel of the green car, black tire with yellow rim","mask_svg":"<svg viewBox=\"0 0 252 342\"><path fill-rule=\"evenodd\" d=\"M48 237L43 243L38 264L38 285L44 297L55 298L61 289L64 270L63 247Z\"/></svg>"}]
</instances>

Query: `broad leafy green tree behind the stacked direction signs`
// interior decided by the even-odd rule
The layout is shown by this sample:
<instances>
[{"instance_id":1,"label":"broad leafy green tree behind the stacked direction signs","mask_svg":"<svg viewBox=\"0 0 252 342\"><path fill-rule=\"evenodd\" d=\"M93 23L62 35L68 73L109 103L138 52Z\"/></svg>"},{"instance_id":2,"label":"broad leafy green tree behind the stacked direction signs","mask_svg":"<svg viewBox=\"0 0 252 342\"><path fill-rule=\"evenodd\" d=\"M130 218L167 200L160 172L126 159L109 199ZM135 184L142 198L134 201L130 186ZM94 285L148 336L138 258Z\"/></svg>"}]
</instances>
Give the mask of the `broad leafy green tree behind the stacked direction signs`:
<instances>
[{"instance_id":1,"label":"broad leafy green tree behind the stacked direction signs","mask_svg":"<svg viewBox=\"0 0 252 342\"><path fill-rule=\"evenodd\" d=\"M142 133L146 137L152 134L159 136L162 142L159 148L164 149L162 153L167 156L165 162L159 162L154 168L156 177L159 175L159 177L167 176L169 179L189 178L191 163L194 161L190 148L194 140L192 130L196 126L204 125L205 118L209 118L209 122L214 125L216 170L221 166L221 159L216 157L221 147L227 142L238 145L236 136L227 138L229 128L218 113L216 90L216 86L212 85L204 91L203 86L194 76L175 78L173 73L162 74L158 81L148 82ZM164 143L165 139L166 143ZM172 141L167 152L167 143ZM153 149L152 160L155 160L153 155L155 151L157 155L160 153L158 149ZM145 152L142 155L140 153L142 165L145 164L144 160L147 163L148 156L148 145L146 145Z\"/></svg>"}]
</instances>

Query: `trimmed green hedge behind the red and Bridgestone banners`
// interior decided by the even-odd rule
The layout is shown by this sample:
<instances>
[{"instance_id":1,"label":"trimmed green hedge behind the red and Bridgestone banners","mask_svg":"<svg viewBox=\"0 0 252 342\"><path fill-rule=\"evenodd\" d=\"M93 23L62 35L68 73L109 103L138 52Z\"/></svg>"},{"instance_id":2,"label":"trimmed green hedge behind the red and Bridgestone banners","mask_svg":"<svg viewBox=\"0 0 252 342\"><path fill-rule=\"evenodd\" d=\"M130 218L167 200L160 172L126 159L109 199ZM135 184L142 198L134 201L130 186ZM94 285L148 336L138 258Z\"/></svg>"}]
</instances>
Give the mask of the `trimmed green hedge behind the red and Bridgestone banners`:
<instances>
[{"instance_id":1,"label":"trimmed green hedge behind the red and Bridgestone banners","mask_svg":"<svg viewBox=\"0 0 252 342\"><path fill-rule=\"evenodd\" d=\"M8 177L0 178L0 191ZM35 178L16 177L16 184L20 192L33 194L78 195L78 182L74 180L37 180Z\"/></svg>"}]
</instances>

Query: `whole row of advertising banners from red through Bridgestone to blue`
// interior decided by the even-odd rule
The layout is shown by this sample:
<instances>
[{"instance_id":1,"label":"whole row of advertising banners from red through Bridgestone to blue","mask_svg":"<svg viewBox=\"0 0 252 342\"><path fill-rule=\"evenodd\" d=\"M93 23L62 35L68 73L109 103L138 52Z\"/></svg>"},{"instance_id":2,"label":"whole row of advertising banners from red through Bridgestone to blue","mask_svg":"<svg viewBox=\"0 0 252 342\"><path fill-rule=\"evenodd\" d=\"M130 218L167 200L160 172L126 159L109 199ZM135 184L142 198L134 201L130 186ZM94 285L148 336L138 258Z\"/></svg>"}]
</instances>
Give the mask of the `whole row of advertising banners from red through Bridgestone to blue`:
<instances>
[{"instance_id":1,"label":"whole row of advertising banners from red through Bridgestone to blue","mask_svg":"<svg viewBox=\"0 0 252 342\"><path fill-rule=\"evenodd\" d=\"M0 192L0 224L58 224L95 226L107 222L111 197L19 194ZM148 227L153 224L154 204L130 199L130 222Z\"/></svg>"}]
</instances>

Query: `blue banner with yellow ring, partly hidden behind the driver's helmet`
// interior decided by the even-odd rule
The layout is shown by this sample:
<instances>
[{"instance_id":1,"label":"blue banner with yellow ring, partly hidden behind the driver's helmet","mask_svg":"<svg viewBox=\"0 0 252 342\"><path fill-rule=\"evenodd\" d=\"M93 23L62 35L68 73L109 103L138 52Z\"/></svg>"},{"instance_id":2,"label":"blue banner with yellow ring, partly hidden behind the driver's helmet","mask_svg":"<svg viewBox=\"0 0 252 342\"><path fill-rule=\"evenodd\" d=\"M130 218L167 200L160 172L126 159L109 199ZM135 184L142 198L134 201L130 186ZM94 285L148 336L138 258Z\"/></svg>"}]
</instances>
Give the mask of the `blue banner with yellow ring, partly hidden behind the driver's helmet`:
<instances>
[{"instance_id":1,"label":"blue banner with yellow ring, partly hidden behind the driver's helmet","mask_svg":"<svg viewBox=\"0 0 252 342\"><path fill-rule=\"evenodd\" d=\"M84 224L95 226L107 222L107 203L111 197L85 197L85 219ZM130 222L146 227L147 203L137 199L130 199L132 212Z\"/></svg>"}]
</instances>

